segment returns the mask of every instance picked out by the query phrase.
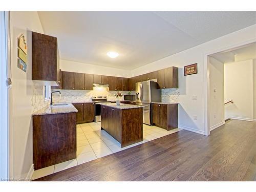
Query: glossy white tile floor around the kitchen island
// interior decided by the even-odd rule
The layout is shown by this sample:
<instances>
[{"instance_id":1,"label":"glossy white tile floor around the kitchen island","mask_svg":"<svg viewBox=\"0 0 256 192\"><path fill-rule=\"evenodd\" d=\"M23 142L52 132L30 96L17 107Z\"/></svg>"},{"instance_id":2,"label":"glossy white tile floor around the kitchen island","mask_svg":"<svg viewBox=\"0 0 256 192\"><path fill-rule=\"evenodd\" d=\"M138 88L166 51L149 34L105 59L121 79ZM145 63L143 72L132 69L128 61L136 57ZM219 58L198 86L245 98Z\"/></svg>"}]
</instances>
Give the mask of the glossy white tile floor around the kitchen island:
<instances>
[{"instance_id":1,"label":"glossy white tile floor around the kitchen island","mask_svg":"<svg viewBox=\"0 0 256 192\"><path fill-rule=\"evenodd\" d=\"M94 159L110 155L126 148L136 146L138 144L151 141L153 139L163 137L180 131L175 129L166 131L156 126L143 124L143 141L121 148L121 145L113 137L104 130L100 130L100 122L84 123L77 125L77 158L62 162L56 165L38 169L33 173L32 178L37 179L61 170L92 161Z\"/></svg>"}]
</instances>

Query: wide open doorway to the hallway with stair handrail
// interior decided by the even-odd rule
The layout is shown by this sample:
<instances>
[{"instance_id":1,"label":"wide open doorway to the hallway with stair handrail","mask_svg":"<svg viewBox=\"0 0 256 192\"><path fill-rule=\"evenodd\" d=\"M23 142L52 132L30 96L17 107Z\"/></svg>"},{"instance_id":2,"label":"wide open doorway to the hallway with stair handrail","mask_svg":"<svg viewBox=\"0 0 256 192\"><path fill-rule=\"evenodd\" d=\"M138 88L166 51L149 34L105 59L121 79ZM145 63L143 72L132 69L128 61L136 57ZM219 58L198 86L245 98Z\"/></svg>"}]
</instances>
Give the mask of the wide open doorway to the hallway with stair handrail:
<instances>
[{"instance_id":1,"label":"wide open doorway to the hallway with stair handrail","mask_svg":"<svg viewBox=\"0 0 256 192\"><path fill-rule=\"evenodd\" d=\"M256 42L207 55L208 133L229 119L256 121Z\"/></svg>"}]
</instances>

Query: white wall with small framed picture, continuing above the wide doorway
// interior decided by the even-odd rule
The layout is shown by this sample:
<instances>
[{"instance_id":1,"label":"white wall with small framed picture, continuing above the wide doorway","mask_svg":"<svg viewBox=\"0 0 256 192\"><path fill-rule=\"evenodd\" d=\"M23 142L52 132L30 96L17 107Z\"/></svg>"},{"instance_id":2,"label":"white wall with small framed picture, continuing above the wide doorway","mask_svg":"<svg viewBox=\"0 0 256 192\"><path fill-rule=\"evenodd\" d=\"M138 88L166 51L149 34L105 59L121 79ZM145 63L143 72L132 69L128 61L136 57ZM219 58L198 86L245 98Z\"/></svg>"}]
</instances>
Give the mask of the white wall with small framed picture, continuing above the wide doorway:
<instances>
[{"instance_id":1,"label":"white wall with small framed picture, continuing above the wide doorway","mask_svg":"<svg viewBox=\"0 0 256 192\"><path fill-rule=\"evenodd\" d=\"M170 66L179 67L179 126L204 134L204 66L206 66L206 54L217 53L231 48L231 46L238 47L238 45L246 44L249 41L256 41L256 25L149 63L132 70L131 75L136 76ZM183 67L193 63L198 63L198 74L184 76ZM197 100L192 100L192 96L197 96ZM194 120L195 115L197 120Z\"/></svg>"}]
</instances>

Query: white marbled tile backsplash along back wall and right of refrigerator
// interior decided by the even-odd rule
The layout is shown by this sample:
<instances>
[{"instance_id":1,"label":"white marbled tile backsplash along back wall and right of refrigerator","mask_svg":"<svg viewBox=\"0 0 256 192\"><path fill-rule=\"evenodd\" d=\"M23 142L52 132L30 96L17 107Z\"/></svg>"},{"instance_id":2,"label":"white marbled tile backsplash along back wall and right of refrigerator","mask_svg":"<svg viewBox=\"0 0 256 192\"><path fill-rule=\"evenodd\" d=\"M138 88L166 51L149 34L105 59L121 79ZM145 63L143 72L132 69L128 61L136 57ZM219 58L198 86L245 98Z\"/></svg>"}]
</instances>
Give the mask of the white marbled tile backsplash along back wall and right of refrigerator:
<instances>
[{"instance_id":1,"label":"white marbled tile backsplash along back wall and right of refrigerator","mask_svg":"<svg viewBox=\"0 0 256 192\"><path fill-rule=\"evenodd\" d=\"M108 101L116 101L117 98L114 94L117 91L108 91L107 88L94 88L92 91L84 90L56 90L60 91L61 96L58 93L53 93L53 102L89 102L92 101L92 96L108 96ZM120 91L122 95L128 95L127 91ZM132 95L135 95L135 91L132 91ZM162 102L179 102L179 89L163 89L162 90ZM119 98L123 100L123 96Z\"/></svg>"}]
</instances>

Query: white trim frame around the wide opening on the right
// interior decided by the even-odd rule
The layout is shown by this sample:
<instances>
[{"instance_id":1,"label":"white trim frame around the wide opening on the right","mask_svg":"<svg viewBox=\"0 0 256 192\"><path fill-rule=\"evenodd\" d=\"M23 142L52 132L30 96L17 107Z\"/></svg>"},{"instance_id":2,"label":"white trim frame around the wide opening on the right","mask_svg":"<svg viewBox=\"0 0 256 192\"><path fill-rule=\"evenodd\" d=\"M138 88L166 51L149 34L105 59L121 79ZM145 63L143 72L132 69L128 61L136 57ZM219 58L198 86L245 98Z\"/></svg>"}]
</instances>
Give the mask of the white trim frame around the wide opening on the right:
<instances>
[{"instance_id":1,"label":"white trim frame around the wide opening on the right","mask_svg":"<svg viewBox=\"0 0 256 192\"><path fill-rule=\"evenodd\" d=\"M250 39L240 42L239 44L233 44L231 46L211 51L204 54L204 135L210 135L210 118L209 118L209 106L210 106L210 69L209 69L209 56L212 54L220 53L223 51L232 50L256 42L256 39Z\"/></svg>"}]
</instances>

